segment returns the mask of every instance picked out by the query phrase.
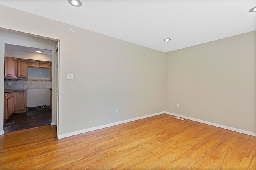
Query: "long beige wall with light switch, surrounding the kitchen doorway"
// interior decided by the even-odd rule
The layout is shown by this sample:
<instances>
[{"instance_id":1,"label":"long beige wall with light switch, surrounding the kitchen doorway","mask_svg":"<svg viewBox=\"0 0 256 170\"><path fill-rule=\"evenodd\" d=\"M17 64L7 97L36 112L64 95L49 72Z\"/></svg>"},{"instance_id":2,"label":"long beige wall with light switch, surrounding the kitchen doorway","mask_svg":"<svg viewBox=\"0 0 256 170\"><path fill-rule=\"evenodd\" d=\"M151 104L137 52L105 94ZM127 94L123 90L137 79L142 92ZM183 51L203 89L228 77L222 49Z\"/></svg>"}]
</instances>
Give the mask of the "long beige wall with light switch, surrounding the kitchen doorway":
<instances>
[{"instance_id":1,"label":"long beige wall with light switch, surrounding the kitchen doorway","mask_svg":"<svg viewBox=\"0 0 256 170\"><path fill-rule=\"evenodd\" d=\"M164 111L165 53L5 6L0 14L2 28L60 40L59 135Z\"/></svg>"}]
</instances>

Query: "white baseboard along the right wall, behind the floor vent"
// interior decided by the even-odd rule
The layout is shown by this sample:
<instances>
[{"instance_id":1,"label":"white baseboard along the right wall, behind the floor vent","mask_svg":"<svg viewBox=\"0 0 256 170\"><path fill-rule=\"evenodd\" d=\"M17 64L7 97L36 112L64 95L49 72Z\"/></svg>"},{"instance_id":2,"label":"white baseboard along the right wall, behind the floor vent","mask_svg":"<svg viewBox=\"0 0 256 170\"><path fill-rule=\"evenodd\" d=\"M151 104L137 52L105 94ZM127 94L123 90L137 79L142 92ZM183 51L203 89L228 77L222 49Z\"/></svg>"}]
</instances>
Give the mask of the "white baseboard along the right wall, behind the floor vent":
<instances>
[{"instance_id":1,"label":"white baseboard along the right wall, behind the floor vent","mask_svg":"<svg viewBox=\"0 0 256 170\"><path fill-rule=\"evenodd\" d=\"M223 128L223 129L228 129L228 130L239 132L239 133L244 133L246 135L256 136L256 133L254 133L254 132L244 131L242 129L236 129L234 127L224 126L224 125L220 125L220 124L217 124L217 123L212 123L212 122L204 121L204 120L200 120L200 119L194 119L192 117L178 115L178 114L175 114L175 113L169 113L169 112L166 112L166 111L164 111L163 113L166 113L168 115L177 116L177 117L182 117L184 119L189 119L189 120L192 120L192 121L197 121L197 122L204 123L204 124L207 124L207 125L212 125L212 126L220 127L220 128Z\"/></svg>"}]
</instances>

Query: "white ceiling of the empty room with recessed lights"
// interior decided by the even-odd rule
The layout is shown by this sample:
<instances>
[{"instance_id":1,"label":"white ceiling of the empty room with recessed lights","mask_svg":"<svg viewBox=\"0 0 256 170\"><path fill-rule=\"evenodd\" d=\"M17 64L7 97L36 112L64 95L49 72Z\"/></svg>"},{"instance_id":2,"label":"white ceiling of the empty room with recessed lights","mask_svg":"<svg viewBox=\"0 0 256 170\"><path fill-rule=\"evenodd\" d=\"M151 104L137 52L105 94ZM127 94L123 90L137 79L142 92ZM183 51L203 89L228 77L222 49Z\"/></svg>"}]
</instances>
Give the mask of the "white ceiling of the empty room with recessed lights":
<instances>
[{"instance_id":1,"label":"white ceiling of the empty room with recessed lights","mask_svg":"<svg viewBox=\"0 0 256 170\"><path fill-rule=\"evenodd\" d=\"M0 4L168 52L256 30L256 0L0 0ZM171 38L165 42L164 38Z\"/></svg>"}]
</instances>

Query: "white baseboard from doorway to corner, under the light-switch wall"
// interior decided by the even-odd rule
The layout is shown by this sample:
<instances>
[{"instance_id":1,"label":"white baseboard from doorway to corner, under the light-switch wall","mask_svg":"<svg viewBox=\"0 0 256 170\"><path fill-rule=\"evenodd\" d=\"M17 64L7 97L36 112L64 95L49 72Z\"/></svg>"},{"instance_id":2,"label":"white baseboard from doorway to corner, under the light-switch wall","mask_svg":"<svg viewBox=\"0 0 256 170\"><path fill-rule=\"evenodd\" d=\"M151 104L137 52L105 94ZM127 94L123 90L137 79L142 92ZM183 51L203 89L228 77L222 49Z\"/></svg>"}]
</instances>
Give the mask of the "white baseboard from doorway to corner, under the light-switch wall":
<instances>
[{"instance_id":1,"label":"white baseboard from doorway to corner, under the light-switch wall","mask_svg":"<svg viewBox=\"0 0 256 170\"><path fill-rule=\"evenodd\" d=\"M165 113L165 112L154 113L154 114L151 114L151 115L136 117L136 118L132 118L132 119L124 120L124 121L118 121L118 122L115 122L115 123L110 123L110 124L101 125L101 126L97 126L97 127L91 127L91 128L83 129L83 130L80 130L80 131L65 133L65 134L62 134L62 135L58 135L58 139L62 139L62 138L65 138L65 137L70 137L70 136L73 136L73 135L78 135L78 134L86 133L86 132L90 132L90 131L95 131L95 130L103 129L103 128L106 128L106 127L120 125L122 123L127 123L127 122L130 122L130 121L144 119L144 118L147 118L147 117L152 117L152 116L160 115L160 114L163 114L163 113Z\"/></svg>"}]
</instances>

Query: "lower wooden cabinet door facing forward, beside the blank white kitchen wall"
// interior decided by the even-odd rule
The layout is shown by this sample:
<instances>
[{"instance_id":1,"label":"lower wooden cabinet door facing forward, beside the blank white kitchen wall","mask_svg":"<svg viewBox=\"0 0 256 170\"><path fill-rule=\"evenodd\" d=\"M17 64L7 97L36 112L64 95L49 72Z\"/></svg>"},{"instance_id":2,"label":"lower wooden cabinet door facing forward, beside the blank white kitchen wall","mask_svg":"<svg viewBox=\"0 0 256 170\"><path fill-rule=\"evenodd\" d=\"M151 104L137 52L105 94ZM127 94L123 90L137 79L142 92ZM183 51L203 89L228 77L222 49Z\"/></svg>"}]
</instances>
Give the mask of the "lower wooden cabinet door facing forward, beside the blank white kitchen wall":
<instances>
[{"instance_id":1,"label":"lower wooden cabinet door facing forward, beside the blank white kitchen wall","mask_svg":"<svg viewBox=\"0 0 256 170\"><path fill-rule=\"evenodd\" d=\"M16 91L15 97L15 111L14 113L23 113L26 112L26 105L27 105L27 93L26 90L24 91Z\"/></svg>"}]
</instances>

